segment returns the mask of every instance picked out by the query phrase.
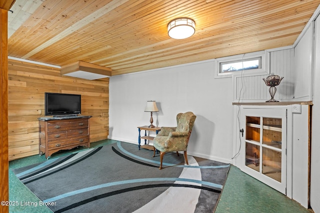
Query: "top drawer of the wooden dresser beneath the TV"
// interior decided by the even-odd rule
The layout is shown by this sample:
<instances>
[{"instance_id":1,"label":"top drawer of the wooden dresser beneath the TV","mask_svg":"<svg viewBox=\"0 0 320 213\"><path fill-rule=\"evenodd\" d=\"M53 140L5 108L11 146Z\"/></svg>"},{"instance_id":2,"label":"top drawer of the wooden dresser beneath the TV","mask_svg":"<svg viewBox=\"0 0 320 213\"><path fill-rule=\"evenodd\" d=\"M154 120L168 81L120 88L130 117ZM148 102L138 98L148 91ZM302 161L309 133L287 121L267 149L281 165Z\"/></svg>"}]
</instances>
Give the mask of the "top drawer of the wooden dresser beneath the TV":
<instances>
[{"instance_id":1,"label":"top drawer of the wooden dresser beneath the TV","mask_svg":"<svg viewBox=\"0 0 320 213\"><path fill-rule=\"evenodd\" d=\"M69 121L51 121L47 122L47 132L62 130L79 129L88 126L87 119L70 119Z\"/></svg>"}]
</instances>

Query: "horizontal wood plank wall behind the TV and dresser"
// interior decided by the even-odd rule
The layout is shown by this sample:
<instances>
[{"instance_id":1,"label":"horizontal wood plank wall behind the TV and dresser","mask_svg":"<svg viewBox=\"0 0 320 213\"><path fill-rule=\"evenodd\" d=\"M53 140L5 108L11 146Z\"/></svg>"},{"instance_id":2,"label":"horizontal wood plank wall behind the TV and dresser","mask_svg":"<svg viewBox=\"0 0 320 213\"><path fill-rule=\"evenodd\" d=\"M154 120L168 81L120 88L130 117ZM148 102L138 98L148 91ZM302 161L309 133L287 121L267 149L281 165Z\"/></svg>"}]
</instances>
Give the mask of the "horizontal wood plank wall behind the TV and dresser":
<instances>
[{"instance_id":1,"label":"horizontal wood plank wall behind the TV and dresser","mask_svg":"<svg viewBox=\"0 0 320 213\"><path fill-rule=\"evenodd\" d=\"M44 92L81 95L81 115L91 115L90 143L106 139L109 78L85 80L60 75L60 69L8 60L9 160L38 154L38 117L44 117Z\"/></svg>"}]
</instances>

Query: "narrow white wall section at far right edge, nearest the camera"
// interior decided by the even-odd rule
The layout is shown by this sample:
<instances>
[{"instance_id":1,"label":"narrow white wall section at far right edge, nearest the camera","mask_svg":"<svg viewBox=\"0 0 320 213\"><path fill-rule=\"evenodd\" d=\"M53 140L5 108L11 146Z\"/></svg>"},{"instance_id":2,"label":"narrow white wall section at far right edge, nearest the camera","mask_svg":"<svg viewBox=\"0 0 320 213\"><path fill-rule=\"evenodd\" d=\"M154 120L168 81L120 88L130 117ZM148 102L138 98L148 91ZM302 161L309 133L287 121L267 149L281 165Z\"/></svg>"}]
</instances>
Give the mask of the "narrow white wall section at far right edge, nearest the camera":
<instances>
[{"instance_id":1,"label":"narrow white wall section at far right edge, nearest the camera","mask_svg":"<svg viewBox=\"0 0 320 213\"><path fill-rule=\"evenodd\" d=\"M315 60L311 134L310 206L320 213L320 20L315 20Z\"/></svg>"}]
</instances>

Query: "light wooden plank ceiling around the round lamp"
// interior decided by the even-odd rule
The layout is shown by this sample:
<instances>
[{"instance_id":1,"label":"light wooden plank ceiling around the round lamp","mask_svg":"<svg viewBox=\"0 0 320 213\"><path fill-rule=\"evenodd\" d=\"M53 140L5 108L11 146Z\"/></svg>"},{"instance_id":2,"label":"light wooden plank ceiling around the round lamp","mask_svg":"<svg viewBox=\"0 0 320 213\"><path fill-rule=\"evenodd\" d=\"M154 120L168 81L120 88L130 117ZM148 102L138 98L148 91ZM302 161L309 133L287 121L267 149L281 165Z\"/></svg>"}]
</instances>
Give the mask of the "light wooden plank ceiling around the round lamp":
<instances>
[{"instance_id":1,"label":"light wooden plank ceiling around the round lamp","mask_svg":"<svg viewBox=\"0 0 320 213\"><path fill-rule=\"evenodd\" d=\"M112 75L292 45L320 0L16 0L8 55L53 65L85 61ZM167 35L177 17L193 36Z\"/></svg>"}]
</instances>

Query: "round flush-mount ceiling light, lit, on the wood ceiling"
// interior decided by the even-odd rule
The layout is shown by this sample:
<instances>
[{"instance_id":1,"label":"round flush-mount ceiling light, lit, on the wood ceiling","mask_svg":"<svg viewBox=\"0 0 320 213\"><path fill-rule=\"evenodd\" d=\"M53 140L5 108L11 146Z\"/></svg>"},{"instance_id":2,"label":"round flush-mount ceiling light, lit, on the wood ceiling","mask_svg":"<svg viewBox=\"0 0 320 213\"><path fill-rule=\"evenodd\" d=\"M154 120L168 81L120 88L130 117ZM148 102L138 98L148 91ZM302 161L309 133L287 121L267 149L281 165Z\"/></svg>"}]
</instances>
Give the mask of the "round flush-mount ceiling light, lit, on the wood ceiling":
<instances>
[{"instance_id":1,"label":"round flush-mount ceiling light, lit, on the wood ceiling","mask_svg":"<svg viewBox=\"0 0 320 213\"><path fill-rule=\"evenodd\" d=\"M168 24L168 35L174 39L188 38L195 32L195 23L191 18L175 18Z\"/></svg>"}]
</instances>

